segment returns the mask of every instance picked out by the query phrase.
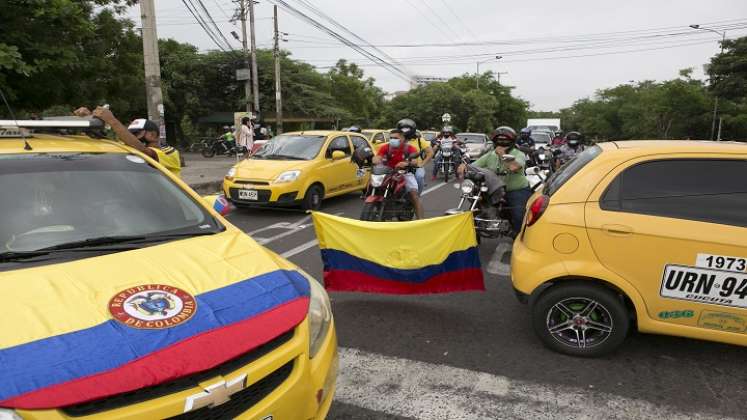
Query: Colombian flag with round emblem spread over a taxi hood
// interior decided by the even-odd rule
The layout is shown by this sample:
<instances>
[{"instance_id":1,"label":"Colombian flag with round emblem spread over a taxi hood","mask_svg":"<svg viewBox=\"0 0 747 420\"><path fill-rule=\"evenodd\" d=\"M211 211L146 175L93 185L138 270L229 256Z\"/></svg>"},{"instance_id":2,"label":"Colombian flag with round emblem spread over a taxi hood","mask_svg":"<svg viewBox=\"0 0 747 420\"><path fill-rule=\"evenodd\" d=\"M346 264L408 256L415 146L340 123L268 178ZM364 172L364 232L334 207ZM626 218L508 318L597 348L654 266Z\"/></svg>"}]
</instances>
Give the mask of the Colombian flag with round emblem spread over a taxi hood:
<instances>
[{"instance_id":1,"label":"Colombian flag with round emblem spread over a taxi hood","mask_svg":"<svg viewBox=\"0 0 747 420\"><path fill-rule=\"evenodd\" d=\"M0 407L62 407L213 368L306 317L309 284L235 230L0 273Z\"/></svg>"}]
</instances>

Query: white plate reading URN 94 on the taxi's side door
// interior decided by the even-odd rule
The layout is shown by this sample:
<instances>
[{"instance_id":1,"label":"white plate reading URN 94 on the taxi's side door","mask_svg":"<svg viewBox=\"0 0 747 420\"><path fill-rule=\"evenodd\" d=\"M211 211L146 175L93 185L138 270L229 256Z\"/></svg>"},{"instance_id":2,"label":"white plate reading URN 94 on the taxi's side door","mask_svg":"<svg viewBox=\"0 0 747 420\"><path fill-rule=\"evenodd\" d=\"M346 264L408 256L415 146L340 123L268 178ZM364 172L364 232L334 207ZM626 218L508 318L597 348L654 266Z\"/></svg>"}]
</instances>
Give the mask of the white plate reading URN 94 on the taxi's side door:
<instances>
[{"instance_id":1,"label":"white plate reading URN 94 on the taxi's side door","mask_svg":"<svg viewBox=\"0 0 747 420\"><path fill-rule=\"evenodd\" d=\"M659 293L665 298L747 308L747 274L670 264L664 268Z\"/></svg>"}]
</instances>

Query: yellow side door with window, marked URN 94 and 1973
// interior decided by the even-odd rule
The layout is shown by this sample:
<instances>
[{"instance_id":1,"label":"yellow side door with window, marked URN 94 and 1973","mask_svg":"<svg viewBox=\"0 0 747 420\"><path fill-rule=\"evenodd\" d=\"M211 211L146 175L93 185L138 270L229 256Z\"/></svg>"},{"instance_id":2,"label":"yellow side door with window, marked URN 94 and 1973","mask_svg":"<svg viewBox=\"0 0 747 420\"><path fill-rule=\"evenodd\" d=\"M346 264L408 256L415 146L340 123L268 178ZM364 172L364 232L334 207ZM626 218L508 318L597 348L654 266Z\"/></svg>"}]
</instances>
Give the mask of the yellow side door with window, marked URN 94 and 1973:
<instances>
[{"instance_id":1,"label":"yellow side door with window, marked URN 94 and 1973","mask_svg":"<svg viewBox=\"0 0 747 420\"><path fill-rule=\"evenodd\" d=\"M600 262L651 319L747 344L747 156L673 154L620 165L585 206ZM639 314L641 316L642 314ZM700 331L700 332L699 332ZM712 336L712 334L709 334Z\"/></svg>"}]
</instances>

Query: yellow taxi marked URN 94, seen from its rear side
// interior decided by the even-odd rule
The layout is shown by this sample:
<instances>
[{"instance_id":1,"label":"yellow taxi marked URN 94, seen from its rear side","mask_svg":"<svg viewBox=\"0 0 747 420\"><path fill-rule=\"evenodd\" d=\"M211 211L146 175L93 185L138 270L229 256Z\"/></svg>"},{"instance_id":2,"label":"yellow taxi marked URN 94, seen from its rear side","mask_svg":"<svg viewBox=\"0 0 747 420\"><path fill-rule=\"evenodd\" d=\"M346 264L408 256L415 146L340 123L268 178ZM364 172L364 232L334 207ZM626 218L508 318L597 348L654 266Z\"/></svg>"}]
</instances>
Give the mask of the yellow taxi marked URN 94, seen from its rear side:
<instances>
[{"instance_id":1,"label":"yellow taxi marked URN 94, seen from its rear side","mask_svg":"<svg viewBox=\"0 0 747 420\"><path fill-rule=\"evenodd\" d=\"M551 349L641 332L747 345L747 145L591 146L528 204L511 276Z\"/></svg>"}]
</instances>

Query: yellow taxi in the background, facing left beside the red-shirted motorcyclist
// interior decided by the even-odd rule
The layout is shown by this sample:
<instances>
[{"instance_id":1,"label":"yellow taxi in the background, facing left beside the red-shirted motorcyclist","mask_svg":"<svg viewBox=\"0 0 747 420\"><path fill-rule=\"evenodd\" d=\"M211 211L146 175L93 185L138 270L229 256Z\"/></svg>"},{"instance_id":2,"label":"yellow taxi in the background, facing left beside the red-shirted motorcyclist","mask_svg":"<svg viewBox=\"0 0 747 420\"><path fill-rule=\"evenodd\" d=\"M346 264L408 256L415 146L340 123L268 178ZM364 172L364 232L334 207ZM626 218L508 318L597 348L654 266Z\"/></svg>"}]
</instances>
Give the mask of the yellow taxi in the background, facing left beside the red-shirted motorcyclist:
<instances>
[{"instance_id":1,"label":"yellow taxi in the background, facing left beside the red-shirted motorcyclist","mask_svg":"<svg viewBox=\"0 0 747 420\"><path fill-rule=\"evenodd\" d=\"M354 150L371 147L362 134L300 131L273 137L233 166L223 181L238 207L301 206L319 209L322 200L366 187L368 173L353 163Z\"/></svg>"}]
</instances>

